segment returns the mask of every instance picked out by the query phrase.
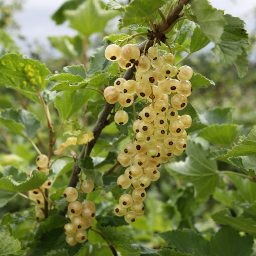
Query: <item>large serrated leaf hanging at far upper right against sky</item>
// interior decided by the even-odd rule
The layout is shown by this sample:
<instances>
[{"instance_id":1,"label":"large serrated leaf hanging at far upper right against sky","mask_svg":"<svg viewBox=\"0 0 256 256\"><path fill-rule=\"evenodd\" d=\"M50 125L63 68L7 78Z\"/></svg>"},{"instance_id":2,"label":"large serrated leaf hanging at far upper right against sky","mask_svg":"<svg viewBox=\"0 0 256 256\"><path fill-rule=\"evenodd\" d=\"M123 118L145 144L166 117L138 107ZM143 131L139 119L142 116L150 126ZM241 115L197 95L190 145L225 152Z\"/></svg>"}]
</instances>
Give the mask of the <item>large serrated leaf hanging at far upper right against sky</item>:
<instances>
[{"instance_id":1,"label":"large serrated leaf hanging at far upper right against sky","mask_svg":"<svg viewBox=\"0 0 256 256\"><path fill-rule=\"evenodd\" d=\"M240 18L232 17L230 14L224 15L224 18L227 24L224 26L224 31L221 35L221 42L216 44L212 51L224 67L229 67L244 53L242 62L240 63L240 60L237 62L237 67L240 68L240 64L243 65L246 61L245 48L248 45L248 34L244 30L244 21ZM242 69L244 70L244 67Z\"/></svg>"}]
</instances>

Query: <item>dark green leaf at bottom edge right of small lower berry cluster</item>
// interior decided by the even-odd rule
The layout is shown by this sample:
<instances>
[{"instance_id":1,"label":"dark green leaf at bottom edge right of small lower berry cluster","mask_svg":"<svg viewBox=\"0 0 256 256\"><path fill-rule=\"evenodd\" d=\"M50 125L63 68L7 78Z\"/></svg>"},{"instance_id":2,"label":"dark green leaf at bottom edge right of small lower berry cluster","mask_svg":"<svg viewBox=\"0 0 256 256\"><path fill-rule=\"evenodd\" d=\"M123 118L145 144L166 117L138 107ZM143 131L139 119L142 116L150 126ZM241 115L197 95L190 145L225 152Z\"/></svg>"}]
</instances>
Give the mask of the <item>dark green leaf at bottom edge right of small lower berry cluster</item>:
<instances>
[{"instance_id":1,"label":"dark green leaf at bottom edge right of small lower berry cluster","mask_svg":"<svg viewBox=\"0 0 256 256\"><path fill-rule=\"evenodd\" d=\"M133 247L131 238L127 236L127 232L118 231L115 227L110 226L102 227L98 225L98 229L111 244L115 245L122 256L140 255L139 250Z\"/></svg>"}]
</instances>

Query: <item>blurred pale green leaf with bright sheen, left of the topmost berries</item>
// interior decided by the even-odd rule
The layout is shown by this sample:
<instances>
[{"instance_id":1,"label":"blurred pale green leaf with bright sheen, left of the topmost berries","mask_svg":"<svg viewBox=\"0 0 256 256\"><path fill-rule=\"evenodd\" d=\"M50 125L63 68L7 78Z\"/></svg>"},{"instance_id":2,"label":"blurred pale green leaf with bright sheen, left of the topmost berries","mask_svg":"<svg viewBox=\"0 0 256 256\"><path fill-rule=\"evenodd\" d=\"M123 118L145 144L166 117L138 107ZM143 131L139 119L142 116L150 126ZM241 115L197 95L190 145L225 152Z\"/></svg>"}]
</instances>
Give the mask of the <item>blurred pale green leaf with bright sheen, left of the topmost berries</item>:
<instances>
[{"instance_id":1,"label":"blurred pale green leaf with bright sheen, left of the topmost berries","mask_svg":"<svg viewBox=\"0 0 256 256\"><path fill-rule=\"evenodd\" d=\"M80 36L48 37L51 45L70 59L80 59L82 55L82 38Z\"/></svg>"}]
</instances>

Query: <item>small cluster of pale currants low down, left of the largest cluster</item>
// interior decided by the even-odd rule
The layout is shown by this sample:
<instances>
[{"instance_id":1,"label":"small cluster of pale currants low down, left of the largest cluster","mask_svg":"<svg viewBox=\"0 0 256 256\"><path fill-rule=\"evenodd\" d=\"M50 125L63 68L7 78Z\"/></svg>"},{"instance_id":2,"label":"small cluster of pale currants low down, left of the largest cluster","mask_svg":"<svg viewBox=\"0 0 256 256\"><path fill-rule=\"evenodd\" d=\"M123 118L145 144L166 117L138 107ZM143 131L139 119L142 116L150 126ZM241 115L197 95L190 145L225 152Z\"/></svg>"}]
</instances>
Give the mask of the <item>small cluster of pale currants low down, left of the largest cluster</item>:
<instances>
[{"instance_id":1,"label":"small cluster of pale currants low down, left of the largest cluster","mask_svg":"<svg viewBox=\"0 0 256 256\"><path fill-rule=\"evenodd\" d=\"M81 185L81 190L88 194L94 189L94 182L91 180L84 180ZM77 200L78 191L74 187L67 187L63 192L64 198L70 202L68 204L68 218L70 223L64 226L64 233L66 234L66 242L70 246L74 246L77 242L84 243L87 240L88 234L86 229L90 228L93 220L96 217L96 207L91 201L84 201L81 203Z\"/></svg>"}]
</instances>

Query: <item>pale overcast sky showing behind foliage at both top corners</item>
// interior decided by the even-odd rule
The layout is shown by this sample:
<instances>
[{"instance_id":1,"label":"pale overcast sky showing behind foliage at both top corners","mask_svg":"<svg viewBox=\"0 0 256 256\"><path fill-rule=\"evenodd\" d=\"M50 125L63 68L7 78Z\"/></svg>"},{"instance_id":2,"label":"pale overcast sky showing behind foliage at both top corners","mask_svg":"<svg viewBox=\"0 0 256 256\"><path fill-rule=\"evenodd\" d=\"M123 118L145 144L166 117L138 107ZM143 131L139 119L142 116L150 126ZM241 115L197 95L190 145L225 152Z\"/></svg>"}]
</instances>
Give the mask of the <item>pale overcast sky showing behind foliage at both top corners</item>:
<instances>
[{"instance_id":1,"label":"pale overcast sky showing behind foliage at both top corners","mask_svg":"<svg viewBox=\"0 0 256 256\"><path fill-rule=\"evenodd\" d=\"M25 0L23 10L17 12L15 20L20 24L20 34L33 45L37 40L40 45L46 49L50 49L47 37L76 35L76 31L68 26L68 23L56 25L50 16L64 3L66 0ZM225 10L225 13L232 16L240 17L245 21L245 28L250 32L256 28L255 16L256 1L255 0L211 0L212 6ZM18 42L19 46L26 54L26 45L24 42ZM54 51L54 54L58 54Z\"/></svg>"}]
</instances>

